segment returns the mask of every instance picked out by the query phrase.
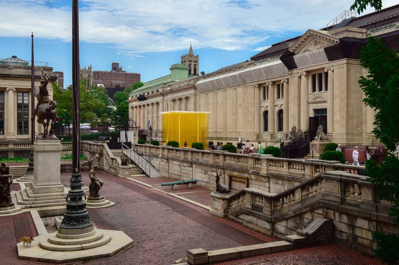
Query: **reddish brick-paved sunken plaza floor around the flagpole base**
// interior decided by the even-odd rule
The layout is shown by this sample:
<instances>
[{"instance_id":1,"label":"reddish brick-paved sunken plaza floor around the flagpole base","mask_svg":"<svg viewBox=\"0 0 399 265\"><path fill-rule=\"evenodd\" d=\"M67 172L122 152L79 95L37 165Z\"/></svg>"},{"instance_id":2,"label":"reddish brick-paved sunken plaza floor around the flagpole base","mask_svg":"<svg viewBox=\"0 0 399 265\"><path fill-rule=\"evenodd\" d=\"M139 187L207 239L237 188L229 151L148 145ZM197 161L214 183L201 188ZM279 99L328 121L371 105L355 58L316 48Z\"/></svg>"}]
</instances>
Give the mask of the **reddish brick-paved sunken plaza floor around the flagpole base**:
<instances>
[{"instance_id":1,"label":"reddish brick-paved sunken plaza floor around the flagpole base","mask_svg":"<svg viewBox=\"0 0 399 265\"><path fill-rule=\"evenodd\" d=\"M89 184L88 172L83 173L83 183ZM130 246L113 257L69 264L173 264L186 256L188 249L215 250L277 241L233 221L216 217L205 209L209 204L209 191L195 185L184 185L174 190L180 196L203 203L193 205L166 192L170 187L160 187L168 178L138 178L141 183L122 179L99 171L104 181L101 194L116 205L109 208L89 209L90 218L101 229L122 230L133 240ZM70 173L62 173L61 181L68 185ZM17 258L15 244L26 235L37 236L29 213L0 218L0 264L43 264ZM359 252L338 245L257 256L221 264L381 264Z\"/></svg>"}]
</instances>

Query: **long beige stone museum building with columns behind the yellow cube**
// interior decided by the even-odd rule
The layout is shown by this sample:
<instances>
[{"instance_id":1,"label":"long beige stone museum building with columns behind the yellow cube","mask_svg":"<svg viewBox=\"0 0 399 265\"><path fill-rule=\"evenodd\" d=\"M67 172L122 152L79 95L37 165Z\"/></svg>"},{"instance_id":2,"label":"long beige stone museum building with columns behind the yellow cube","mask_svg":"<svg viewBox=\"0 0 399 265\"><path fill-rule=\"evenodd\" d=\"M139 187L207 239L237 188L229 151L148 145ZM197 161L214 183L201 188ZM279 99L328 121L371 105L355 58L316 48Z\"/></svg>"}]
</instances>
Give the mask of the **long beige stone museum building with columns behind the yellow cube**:
<instances>
[{"instance_id":1,"label":"long beige stone museum building with columns behind the yellow cube","mask_svg":"<svg viewBox=\"0 0 399 265\"><path fill-rule=\"evenodd\" d=\"M223 144L236 144L239 137L270 144L293 126L314 138L321 124L333 142L375 146L375 112L363 103L358 84L367 75L359 55L369 36L399 50L399 5L352 15L200 76L190 47L191 62L183 60L186 55L181 60L187 74L133 91L129 116L144 129L161 129L161 112L208 111L208 141Z\"/></svg>"}]
</instances>

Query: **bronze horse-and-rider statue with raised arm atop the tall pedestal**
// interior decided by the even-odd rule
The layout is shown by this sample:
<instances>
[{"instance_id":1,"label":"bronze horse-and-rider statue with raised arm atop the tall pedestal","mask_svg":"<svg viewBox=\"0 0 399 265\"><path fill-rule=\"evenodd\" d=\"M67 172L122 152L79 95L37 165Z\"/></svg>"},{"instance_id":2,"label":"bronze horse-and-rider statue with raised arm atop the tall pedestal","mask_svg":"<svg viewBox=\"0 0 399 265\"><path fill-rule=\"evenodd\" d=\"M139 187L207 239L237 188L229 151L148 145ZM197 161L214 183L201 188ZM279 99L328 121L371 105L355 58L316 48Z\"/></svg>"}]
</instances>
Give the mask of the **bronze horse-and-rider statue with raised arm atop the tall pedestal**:
<instances>
[{"instance_id":1,"label":"bronze horse-and-rider statue with raised arm atop the tall pedestal","mask_svg":"<svg viewBox=\"0 0 399 265\"><path fill-rule=\"evenodd\" d=\"M57 112L55 111L57 103L55 102L55 100L51 100L49 98L47 90L49 77L42 69L40 70L41 70L41 81L40 81L41 85L39 88L34 89L34 95L37 97L37 104L36 108L33 111L33 116L31 118L31 120L33 121L34 117L37 115L37 122L43 125L44 128L43 133L36 137L38 139L47 138L48 134L52 135L54 123L59 121ZM50 123L50 120L51 120L50 131L48 131L48 125ZM57 139L54 135L52 135L49 138Z\"/></svg>"}]
</instances>

